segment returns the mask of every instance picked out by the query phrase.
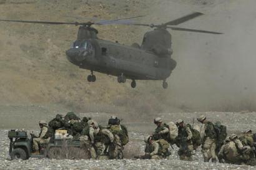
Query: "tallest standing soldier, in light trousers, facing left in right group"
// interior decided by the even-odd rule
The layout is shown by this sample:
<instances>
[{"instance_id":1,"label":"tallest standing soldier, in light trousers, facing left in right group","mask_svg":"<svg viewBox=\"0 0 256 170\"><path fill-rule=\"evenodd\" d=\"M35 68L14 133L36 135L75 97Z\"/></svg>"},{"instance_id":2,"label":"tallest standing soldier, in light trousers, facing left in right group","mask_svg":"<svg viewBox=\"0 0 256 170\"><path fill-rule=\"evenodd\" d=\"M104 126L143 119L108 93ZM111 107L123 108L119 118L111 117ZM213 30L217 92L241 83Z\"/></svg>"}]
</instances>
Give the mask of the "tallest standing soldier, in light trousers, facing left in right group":
<instances>
[{"instance_id":1,"label":"tallest standing soldier, in light trousers, facing left in right group","mask_svg":"<svg viewBox=\"0 0 256 170\"><path fill-rule=\"evenodd\" d=\"M215 154L217 133L215 131L214 124L206 120L204 115L201 115L197 120L202 123L201 126L201 140L202 140L202 153L204 155L204 162L209 162L212 158L212 163L217 162L217 156ZM203 127L204 126L204 127ZM202 131L204 129L204 131Z\"/></svg>"}]
</instances>

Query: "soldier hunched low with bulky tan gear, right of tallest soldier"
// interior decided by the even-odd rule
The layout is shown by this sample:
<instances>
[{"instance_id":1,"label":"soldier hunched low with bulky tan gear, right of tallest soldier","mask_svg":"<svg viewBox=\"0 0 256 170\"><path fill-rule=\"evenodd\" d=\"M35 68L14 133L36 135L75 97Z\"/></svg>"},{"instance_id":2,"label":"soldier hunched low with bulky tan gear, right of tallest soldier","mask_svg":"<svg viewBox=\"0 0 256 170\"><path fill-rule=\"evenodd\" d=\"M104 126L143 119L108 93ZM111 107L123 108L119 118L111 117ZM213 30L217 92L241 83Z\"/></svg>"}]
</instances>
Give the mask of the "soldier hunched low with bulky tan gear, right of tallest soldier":
<instances>
[{"instance_id":1,"label":"soldier hunched low with bulky tan gear, right of tallest soldier","mask_svg":"<svg viewBox=\"0 0 256 170\"><path fill-rule=\"evenodd\" d=\"M245 148L237 135L233 134L225 139L225 144L220 148L218 157L220 163L245 164L249 161L249 149Z\"/></svg>"}]
</instances>

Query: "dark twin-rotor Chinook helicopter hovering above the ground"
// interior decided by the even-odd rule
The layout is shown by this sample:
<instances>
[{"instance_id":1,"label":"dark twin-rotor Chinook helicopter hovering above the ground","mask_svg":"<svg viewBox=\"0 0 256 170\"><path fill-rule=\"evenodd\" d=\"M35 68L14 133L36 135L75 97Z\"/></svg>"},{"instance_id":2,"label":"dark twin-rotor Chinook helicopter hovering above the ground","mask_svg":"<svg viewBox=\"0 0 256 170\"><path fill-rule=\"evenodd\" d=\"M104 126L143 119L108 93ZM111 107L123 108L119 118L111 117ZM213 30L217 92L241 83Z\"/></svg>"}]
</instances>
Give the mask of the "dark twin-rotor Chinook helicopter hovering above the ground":
<instances>
[{"instance_id":1,"label":"dark twin-rotor Chinook helicopter hovering above the ground","mask_svg":"<svg viewBox=\"0 0 256 170\"><path fill-rule=\"evenodd\" d=\"M197 29L186 29L173 27L190 19L202 15L194 12L174 21L160 25L134 24L132 22L120 22L123 19L99 22L51 22L51 21L19 21L0 19L5 22L23 22L32 24L56 24L80 26L77 33L77 40L66 51L67 59L79 68L91 70L88 75L89 82L95 82L94 71L114 75L117 82L125 83L127 78L132 80L131 87L136 87L135 80L162 80L162 87L167 88L166 79L170 76L176 66L172 55L172 39L167 29L174 31L202 32L208 34L222 34L220 32L202 31ZM126 19L131 19L130 17ZM92 25L126 24L132 26L145 26L154 28L146 32L142 44L122 45L118 42L99 39L98 31Z\"/></svg>"}]
</instances>

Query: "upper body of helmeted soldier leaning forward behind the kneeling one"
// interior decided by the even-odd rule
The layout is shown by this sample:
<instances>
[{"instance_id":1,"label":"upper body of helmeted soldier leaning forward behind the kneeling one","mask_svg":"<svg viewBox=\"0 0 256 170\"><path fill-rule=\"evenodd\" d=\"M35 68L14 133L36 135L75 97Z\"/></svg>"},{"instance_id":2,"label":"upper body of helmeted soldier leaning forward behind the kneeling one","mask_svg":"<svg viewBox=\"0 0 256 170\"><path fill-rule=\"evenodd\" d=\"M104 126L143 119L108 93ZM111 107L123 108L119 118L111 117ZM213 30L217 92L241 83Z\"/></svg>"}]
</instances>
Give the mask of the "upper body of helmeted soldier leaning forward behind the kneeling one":
<instances>
[{"instance_id":1,"label":"upper body of helmeted soldier leaning forward behind the kneeling one","mask_svg":"<svg viewBox=\"0 0 256 170\"><path fill-rule=\"evenodd\" d=\"M155 125L157 125L157 128L155 129L155 132L153 134L154 140L165 139L168 141L169 128L162 123L162 118L155 118L154 123Z\"/></svg>"}]
</instances>

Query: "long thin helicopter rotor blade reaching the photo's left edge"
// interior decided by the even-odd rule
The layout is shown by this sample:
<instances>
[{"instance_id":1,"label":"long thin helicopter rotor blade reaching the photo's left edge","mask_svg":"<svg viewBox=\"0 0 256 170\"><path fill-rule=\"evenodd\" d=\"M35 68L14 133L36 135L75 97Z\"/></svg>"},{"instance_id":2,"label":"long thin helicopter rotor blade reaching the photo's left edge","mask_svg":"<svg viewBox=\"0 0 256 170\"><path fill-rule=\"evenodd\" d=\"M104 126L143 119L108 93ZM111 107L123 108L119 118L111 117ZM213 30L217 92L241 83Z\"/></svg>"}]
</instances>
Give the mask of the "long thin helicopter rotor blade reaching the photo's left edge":
<instances>
[{"instance_id":1,"label":"long thin helicopter rotor blade reaching the photo's left edge","mask_svg":"<svg viewBox=\"0 0 256 170\"><path fill-rule=\"evenodd\" d=\"M79 22L51 22L51 21L22 21L22 20L9 20L9 19L0 19L4 22L22 22L22 23L31 23L31 24L52 24L52 25L84 25L86 23Z\"/></svg>"}]
</instances>

